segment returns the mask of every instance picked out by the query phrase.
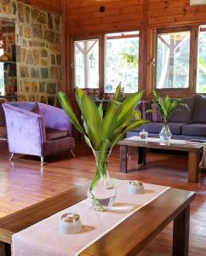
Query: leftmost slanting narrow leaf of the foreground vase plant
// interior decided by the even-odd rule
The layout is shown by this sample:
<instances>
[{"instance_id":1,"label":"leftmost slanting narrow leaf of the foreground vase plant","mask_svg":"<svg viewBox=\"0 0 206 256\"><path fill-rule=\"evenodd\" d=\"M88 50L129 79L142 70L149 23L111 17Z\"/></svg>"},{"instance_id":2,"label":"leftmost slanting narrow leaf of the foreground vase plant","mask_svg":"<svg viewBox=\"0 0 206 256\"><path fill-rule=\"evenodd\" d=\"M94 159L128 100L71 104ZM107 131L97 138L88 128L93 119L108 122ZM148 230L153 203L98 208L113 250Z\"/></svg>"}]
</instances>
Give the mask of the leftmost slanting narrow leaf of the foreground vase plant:
<instances>
[{"instance_id":1,"label":"leftmost slanting narrow leaf of the foreground vase plant","mask_svg":"<svg viewBox=\"0 0 206 256\"><path fill-rule=\"evenodd\" d=\"M72 109L72 105L69 101L69 98L66 96L66 94L63 91L60 91L57 96L60 101L61 107L65 110L65 112L69 116L72 124L75 126L77 131L81 132L84 135L83 128L78 122L77 116Z\"/></svg>"}]
</instances>

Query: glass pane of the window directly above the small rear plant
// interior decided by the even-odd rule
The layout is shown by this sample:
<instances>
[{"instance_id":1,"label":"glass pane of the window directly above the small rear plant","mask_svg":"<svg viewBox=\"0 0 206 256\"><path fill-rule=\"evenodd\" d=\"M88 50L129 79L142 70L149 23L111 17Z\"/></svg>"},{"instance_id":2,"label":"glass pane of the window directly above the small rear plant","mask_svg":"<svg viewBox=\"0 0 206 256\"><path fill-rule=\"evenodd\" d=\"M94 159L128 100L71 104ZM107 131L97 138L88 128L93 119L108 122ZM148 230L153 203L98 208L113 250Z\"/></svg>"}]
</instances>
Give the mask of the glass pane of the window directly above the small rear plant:
<instances>
[{"instance_id":1,"label":"glass pane of the window directly above the small rear plant","mask_svg":"<svg viewBox=\"0 0 206 256\"><path fill-rule=\"evenodd\" d=\"M157 34L157 89L188 88L190 32Z\"/></svg>"}]
</instances>

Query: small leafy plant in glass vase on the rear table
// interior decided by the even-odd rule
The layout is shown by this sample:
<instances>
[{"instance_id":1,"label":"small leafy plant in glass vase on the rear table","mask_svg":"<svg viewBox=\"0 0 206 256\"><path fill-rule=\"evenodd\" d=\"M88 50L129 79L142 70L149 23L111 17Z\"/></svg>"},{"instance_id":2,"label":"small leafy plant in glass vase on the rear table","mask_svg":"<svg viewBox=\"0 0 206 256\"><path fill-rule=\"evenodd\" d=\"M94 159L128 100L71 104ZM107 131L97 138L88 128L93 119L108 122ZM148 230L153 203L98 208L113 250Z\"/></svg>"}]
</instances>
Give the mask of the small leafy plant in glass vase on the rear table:
<instances>
[{"instance_id":1,"label":"small leafy plant in glass vase on the rear table","mask_svg":"<svg viewBox=\"0 0 206 256\"><path fill-rule=\"evenodd\" d=\"M153 102L156 104L158 112L163 117L163 128L159 133L159 137L162 142L167 142L172 137L172 133L169 129L169 118L171 114L174 113L178 106L184 106L186 108L188 107L185 103L182 103L181 99L171 100L169 96L162 98L157 94L156 90L152 91L152 96Z\"/></svg>"}]
</instances>

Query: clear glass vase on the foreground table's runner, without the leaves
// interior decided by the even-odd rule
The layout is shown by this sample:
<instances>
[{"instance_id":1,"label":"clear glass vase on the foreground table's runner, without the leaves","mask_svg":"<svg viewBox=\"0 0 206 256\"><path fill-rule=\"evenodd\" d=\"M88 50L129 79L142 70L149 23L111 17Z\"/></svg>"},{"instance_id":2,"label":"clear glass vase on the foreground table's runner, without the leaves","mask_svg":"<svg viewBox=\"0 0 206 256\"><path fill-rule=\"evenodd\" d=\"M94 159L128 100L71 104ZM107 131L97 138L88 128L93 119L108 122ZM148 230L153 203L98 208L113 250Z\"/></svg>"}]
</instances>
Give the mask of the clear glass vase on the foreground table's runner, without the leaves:
<instances>
[{"instance_id":1,"label":"clear glass vase on the foreground table's runner, without the leaves","mask_svg":"<svg viewBox=\"0 0 206 256\"><path fill-rule=\"evenodd\" d=\"M116 198L116 189L107 171L107 161L110 152L98 151L94 153L96 174L89 186L88 199L96 211L108 211Z\"/></svg>"}]
</instances>

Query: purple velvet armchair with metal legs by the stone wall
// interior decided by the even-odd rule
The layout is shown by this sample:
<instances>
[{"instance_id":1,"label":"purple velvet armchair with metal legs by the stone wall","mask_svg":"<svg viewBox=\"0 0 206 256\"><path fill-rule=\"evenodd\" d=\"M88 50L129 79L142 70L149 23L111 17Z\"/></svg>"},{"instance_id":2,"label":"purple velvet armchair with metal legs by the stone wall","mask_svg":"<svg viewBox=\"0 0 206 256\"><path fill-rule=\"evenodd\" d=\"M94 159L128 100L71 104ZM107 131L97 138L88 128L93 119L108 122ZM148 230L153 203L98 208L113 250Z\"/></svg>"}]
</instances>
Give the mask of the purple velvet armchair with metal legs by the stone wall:
<instances>
[{"instance_id":1,"label":"purple velvet armchair with metal legs by the stone wall","mask_svg":"<svg viewBox=\"0 0 206 256\"><path fill-rule=\"evenodd\" d=\"M66 113L39 102L3 103L9 152L41 157L74 149L72 123ZM72 152L72 155L73 152Z\"/></svg>"}]
</instances>

